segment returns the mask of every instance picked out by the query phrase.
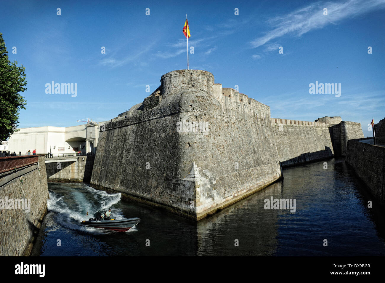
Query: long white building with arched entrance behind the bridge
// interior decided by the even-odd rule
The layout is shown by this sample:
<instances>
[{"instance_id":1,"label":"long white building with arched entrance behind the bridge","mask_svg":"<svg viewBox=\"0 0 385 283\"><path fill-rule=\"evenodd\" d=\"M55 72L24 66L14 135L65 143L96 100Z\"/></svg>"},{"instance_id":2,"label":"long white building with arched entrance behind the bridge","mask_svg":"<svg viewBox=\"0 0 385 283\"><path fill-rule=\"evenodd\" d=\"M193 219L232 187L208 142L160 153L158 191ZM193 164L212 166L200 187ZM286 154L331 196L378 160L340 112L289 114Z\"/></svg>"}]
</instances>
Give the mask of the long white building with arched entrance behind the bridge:
<instances>
[{"instance_id":1,"label":"long white building with arched entrance behind the bridge","mask_svg":"<svg viewBox=\"0 0 385 283\"><path fill-rule=\"evenodd\" d=\"M104 122L90 121L72 127L32 127L20 128L8 139L8 150L22 155L36 149L37 154L93 152L97 147L99 127Z\"/></svg>"}]
</instances>

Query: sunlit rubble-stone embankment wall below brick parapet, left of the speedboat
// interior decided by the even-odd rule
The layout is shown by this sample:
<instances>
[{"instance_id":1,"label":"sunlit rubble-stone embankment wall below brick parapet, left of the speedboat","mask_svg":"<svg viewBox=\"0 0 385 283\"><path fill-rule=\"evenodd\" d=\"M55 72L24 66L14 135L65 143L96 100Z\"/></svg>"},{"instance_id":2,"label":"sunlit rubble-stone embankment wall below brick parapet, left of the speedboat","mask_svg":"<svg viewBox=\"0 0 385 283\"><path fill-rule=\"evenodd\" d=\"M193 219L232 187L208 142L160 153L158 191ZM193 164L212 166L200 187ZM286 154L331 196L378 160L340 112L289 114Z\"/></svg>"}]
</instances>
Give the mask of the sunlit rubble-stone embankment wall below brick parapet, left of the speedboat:
<instances>
[{"instance_id":1,"label":"sunlit rubble-stone embankment wall below brick parapet, left of the speedboat","mask_svg":"<svg viewBox=\"0 0 385 283\"><path fill-rule=\"evenodd\" d=\"M34 164L2 174L0 181L0 256L22 256L30 247L33 231L47 211L49 194L44 156L39 156ZM27 199L27 209L24 202L24 209L10 209L15 208L10 199Z\"/></svg>"}]
</instances>

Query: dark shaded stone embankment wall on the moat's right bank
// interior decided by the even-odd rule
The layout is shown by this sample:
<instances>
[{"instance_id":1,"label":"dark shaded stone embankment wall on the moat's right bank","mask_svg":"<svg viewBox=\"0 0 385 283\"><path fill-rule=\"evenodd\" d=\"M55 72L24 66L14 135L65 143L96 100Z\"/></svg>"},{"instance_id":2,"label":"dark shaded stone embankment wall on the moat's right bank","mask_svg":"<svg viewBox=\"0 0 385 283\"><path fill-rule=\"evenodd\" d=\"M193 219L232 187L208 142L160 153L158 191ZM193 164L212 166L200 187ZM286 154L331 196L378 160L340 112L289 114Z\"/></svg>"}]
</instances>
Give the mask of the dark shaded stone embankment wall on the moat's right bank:
<instances>
[{"instance_id":1,"label":"dark shaded stone embankment wall on the moat's right bank","mask_svg":"<svg viewBox=\"0 0 385 283\"><path fill-rule=\"evenodd\" d=\"M353 167L375 198L385 205L385 147L350 140L346 163Z\"/></svg>"}]
</instances>

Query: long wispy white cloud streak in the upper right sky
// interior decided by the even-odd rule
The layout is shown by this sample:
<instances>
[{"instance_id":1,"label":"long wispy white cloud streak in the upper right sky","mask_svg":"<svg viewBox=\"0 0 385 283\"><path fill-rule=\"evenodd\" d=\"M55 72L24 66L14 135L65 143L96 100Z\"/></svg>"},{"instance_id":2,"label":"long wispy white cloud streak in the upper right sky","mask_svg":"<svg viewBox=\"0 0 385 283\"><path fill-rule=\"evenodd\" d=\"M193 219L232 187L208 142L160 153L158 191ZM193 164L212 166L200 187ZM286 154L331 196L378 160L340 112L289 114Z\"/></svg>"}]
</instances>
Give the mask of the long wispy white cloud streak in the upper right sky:
<instances>
[{"instance_id":1,"label":"long wispy white cloud streak in the upper right sky","mask_svg":"<svg viewBox=\"0 0 385 283\"><path fill-rule=\"evenodd\" d=\"M323 14L328 9L328 15ZM287 15L277 16L268 20L273 29L265 35L251 41L256 48L270 40L290 34L300 37L306 32L336 24L347 18L356 17L372 10L385 8L384 0L349 0L346 2L312 3Z\"/></svg>"}]
</instances>

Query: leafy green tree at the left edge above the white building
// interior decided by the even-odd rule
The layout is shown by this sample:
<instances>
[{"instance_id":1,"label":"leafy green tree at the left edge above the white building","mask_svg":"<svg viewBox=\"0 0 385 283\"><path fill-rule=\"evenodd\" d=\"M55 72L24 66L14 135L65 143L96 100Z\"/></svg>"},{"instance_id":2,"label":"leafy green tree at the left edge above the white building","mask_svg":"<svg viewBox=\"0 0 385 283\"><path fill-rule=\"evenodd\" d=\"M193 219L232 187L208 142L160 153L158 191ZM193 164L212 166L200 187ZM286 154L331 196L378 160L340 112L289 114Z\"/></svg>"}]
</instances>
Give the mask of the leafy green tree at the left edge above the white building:
<instances>
[{"instance_id":1,"label":"leafy green tree at the left edge above the white building","mask_svg":"<svg viewBox=\"0 0 385 283\"><path fill-rule=\"evenodd\" d=\"M25 91L25 67L17 66L17 61L8 60L7 47L0 33L0 143L16 132L19 110L25 109L24 100L19 92Z\"/></svg>"}]
</instances>

